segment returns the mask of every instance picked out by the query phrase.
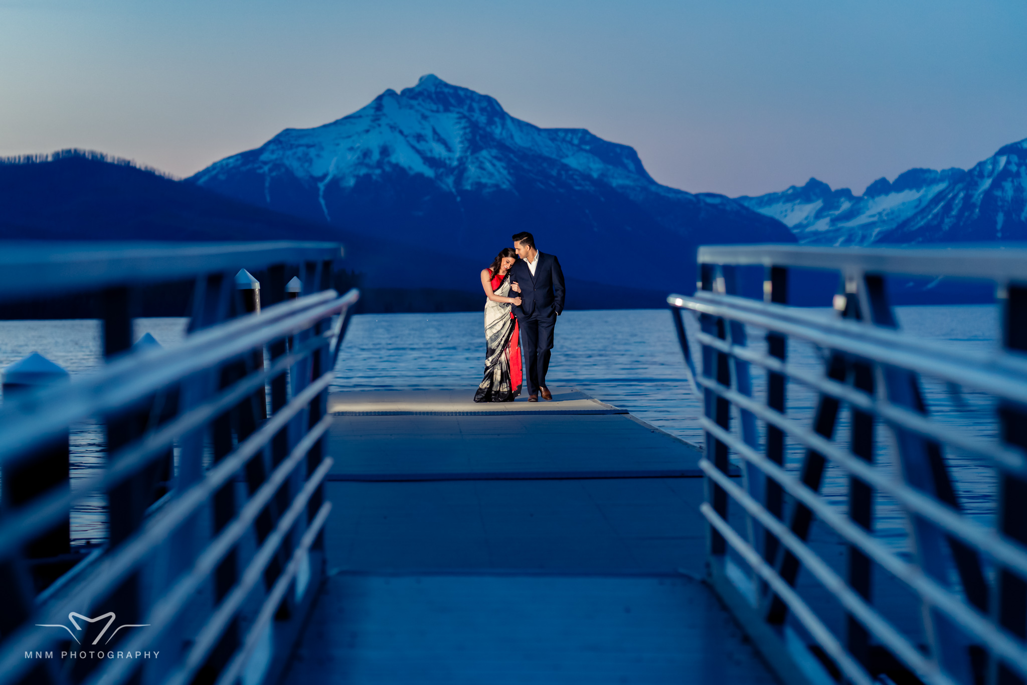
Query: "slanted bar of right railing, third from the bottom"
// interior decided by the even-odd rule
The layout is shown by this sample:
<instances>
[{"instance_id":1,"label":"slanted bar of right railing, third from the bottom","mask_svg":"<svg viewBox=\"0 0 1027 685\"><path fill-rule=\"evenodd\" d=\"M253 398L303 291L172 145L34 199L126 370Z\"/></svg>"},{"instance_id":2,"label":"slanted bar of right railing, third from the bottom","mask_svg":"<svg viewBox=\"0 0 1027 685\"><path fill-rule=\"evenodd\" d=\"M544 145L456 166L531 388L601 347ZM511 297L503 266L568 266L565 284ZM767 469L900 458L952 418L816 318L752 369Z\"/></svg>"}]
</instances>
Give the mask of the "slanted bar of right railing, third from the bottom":
<instances>
[{"instance_id":1,"label":"slanted bar of right railing, third from the bottom","mask_svg":"<svg viewBox=\"0 0 1027 685\"><path fill-rule=\"evenodd\" d=\"M1013 661L1021 673L1027 675L1027 649L1025 649L1023 643L1017 642L1015 638L1007 636L1004 632L997 629L987 616L978 612L976 607L971 607L961 602L954 594L925 575L919 567L902 561L865 530L832 509L831 505L825 502L819 495L788 475L779 466L776 464L771 466L766 463L768 460L741 441L735 439L734 435L723 430L716 423L708 419L703 419L702 427L710 430L717 440L735 450L747 461L757 465L792 496L808 506L810 510L819 516L836 533L860 547L868 557L877 562L881 568L916 591L924 602L928 602L947 613L963 630L973 633L995 649L995 651L1000 652L1004 657Z\"/></svg>"}]
</instances>

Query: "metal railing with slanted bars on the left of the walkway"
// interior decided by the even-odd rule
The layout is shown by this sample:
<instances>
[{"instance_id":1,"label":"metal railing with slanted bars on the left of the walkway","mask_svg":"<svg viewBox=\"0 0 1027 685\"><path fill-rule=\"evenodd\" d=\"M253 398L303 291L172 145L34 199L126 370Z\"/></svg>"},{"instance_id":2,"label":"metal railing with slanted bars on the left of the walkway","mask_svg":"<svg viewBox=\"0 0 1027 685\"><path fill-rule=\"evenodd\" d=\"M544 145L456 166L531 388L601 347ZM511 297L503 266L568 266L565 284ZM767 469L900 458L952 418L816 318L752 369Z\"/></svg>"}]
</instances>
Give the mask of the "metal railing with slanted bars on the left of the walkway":
<instances>
[{"instance_id":1,"label":"metal railing with slanted bars on the left of the walkway","mask_svg":"<svg viewBox=\"0 0 1027 685\"><path fill-rule=\"evenodd\" d=\"M54 436L85 419L104 423L107 453L75 489L58 479L2 503L0 684L274 678L324 576L328 386L358 297L330 289L339 245L9 246L0 299L97 291L108 363L5 397L2 477L31 488ZM271 306L261 309L254 279L237 289L242 268L266 272ZM185 277L195 286L184 342L131 349L131 290ZM109 539L76 558L53 531L96 493ZM41 562L69 558L61 577L37 577Z\"/></svg>"}]
</instances>

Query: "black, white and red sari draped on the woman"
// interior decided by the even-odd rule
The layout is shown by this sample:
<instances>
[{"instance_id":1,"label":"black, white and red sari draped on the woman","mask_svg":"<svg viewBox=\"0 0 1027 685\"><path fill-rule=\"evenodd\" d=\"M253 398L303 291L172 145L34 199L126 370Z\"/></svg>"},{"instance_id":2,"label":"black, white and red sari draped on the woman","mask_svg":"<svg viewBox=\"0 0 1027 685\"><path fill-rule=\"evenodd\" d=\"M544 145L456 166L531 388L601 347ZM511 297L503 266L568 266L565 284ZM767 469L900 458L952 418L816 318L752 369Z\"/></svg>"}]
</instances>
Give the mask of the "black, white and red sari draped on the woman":
<instances>
[{"instance_id":1,"label":"black, white and red sari draped on the woman","mask_svg":"<svg viewBox=\"0 0 1027 685\"><path fill-rule=\"evenodd\" d=\"M492 292L510 297L509 275L496 274ZM521 393L521 339L509 304L485 302L485 377L474 402L514 402Z\"/></svg>"}]
</instances>

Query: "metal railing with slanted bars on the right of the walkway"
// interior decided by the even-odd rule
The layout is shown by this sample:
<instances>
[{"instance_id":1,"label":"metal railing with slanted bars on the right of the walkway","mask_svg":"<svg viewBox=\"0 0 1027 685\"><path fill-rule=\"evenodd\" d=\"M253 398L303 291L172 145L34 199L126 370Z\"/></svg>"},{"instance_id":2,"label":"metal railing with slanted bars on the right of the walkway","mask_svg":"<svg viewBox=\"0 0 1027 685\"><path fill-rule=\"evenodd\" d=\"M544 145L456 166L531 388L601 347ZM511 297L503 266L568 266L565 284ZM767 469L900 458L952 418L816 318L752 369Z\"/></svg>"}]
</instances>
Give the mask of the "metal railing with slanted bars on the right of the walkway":
<instances>
[{"instance_id":1,"label":"metal railing with slanted bars on the right of the walkway","mask_svg":"<svg viewBox=\"0 0 1027 685\"><path fill-rule=\"evenodd\" d=\"M703 406L710 579L767 661L808 683L1027 682L1027 250L732 245L698 262L696 293L668 303ZM759 266L763 302L739 296ZM788 305L802 268L837 271L836 316ZM901 333L889 274L994 280L1000 347ZM822 368L791 359L797 344ZM939 421L927 379L990 395L994 434ZM815 397L805 415L786 409L796 385ZM965 512L955 454L993 478L993 523ZM907 550L875 532L885 500Z\"/></svg>"}]
</instances>

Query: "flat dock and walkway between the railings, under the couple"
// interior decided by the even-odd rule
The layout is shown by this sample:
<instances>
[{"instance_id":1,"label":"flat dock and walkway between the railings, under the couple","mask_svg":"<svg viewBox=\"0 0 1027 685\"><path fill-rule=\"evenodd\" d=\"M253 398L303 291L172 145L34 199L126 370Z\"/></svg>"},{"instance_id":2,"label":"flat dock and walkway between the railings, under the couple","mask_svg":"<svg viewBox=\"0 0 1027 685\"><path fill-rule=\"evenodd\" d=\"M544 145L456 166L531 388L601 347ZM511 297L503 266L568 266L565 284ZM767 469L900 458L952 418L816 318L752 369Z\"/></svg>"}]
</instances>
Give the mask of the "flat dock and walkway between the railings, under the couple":
<instances>
[{"instance_id":1,"label":"flat dock and walkway between the railings, under the couple","mask_svg":"<svg viewBox=\"0 0 1027 685\"><path fill-rule=\"evenodd\" d=\"M698 451L573 389L334 395L289 685L774 682L700 578Z\"/></svg>"}]
</instances>

